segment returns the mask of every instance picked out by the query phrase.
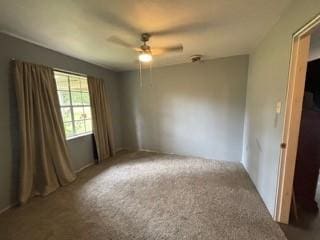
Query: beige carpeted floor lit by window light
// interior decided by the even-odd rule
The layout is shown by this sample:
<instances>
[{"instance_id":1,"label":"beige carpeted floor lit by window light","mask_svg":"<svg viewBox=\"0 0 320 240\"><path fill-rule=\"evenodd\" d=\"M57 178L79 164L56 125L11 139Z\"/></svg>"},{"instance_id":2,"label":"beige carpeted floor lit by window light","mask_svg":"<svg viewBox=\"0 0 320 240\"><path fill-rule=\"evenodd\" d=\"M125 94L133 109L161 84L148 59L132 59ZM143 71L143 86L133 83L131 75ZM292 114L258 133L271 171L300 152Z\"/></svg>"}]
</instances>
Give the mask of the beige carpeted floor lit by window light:
<instances>
[{"instance_id":1,"label":"beige carpeted floor lit by window light","mask_svg":"<svg viewBox=\"0 0 320 240\"><path fill-rule=\"evenodd\" d=\"M240 164L122 153L0 215L0 239L286 239Z\"/></svg>"}]
</instances>

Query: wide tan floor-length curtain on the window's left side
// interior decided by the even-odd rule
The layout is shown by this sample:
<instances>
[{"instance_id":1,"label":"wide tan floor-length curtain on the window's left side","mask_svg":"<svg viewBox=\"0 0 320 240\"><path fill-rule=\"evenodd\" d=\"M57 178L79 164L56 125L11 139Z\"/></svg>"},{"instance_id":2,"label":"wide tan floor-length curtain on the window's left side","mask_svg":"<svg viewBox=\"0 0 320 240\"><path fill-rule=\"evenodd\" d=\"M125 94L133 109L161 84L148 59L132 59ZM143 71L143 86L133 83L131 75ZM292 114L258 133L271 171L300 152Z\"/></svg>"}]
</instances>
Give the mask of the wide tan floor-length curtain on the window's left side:
<instances>
[{"instance_id":1,"label":"wide tan floor-length curtain on the window's left side","mask_svg":"<svg viewBox=\"0 0 320 240\"><path fill-rule=\"evenodd\" d=\"M45 196L75 179L71 170L53 70L13 63L20 122L19 201Z\"/></svg>"}]
</instances>

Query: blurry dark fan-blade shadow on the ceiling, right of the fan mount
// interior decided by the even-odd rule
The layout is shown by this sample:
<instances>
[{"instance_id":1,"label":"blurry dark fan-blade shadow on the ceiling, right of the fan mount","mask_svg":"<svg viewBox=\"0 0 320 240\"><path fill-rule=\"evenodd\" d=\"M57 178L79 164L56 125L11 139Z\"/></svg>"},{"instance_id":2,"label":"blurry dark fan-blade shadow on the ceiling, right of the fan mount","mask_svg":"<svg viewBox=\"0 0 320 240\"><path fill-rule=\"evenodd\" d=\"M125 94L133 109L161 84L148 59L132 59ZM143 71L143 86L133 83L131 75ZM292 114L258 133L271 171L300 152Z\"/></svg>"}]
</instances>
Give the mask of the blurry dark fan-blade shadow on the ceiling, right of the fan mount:
<instances>
[{"instance_id":1,"label":"blurry dark fan-blade shadow on the ceiling, right of the fan mount","mask_svg":"<svg viewBox=\"0 0 320 240\"><path fill-rule=\"evenodd\" d=\"M213 27L211 22L197 22L190 24L182 24L178 26L174 26L172 28L159 30L155 32L150 32L151 36L167 36L171 34L181 34L181 33L200 33L206 31L207 29Z\"/></svg>"}]
</instances>

